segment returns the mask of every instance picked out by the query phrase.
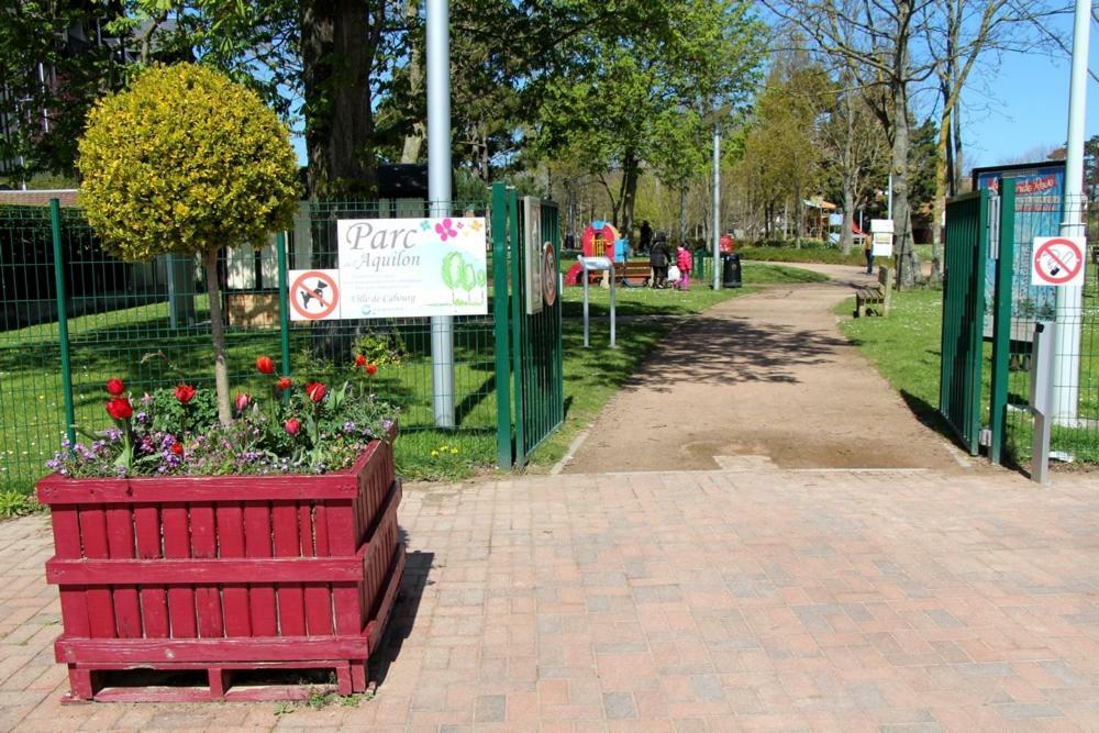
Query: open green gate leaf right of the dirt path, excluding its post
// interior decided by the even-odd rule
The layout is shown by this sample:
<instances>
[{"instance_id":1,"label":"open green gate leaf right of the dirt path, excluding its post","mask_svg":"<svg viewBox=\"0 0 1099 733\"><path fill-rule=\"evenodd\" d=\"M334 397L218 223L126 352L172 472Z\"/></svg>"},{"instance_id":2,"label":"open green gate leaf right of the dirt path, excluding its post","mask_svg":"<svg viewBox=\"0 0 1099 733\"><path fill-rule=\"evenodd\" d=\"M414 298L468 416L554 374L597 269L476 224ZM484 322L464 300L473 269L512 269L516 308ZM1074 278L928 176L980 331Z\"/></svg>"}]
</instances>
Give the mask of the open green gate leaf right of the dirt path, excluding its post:
<instances>
[{"instance_id":1,"label":"open green gate leaf right of the dirt path, excluding its post","mask_svg":"<svg viewBox=\"0 0 1099 733\"><path fill-rule=\"evenodd\" d=\"M972 455L977 455L980 437L988 223L987 190L967 193L946 203L946 284L939 411Z\"/></svg>"}]
</instances>

